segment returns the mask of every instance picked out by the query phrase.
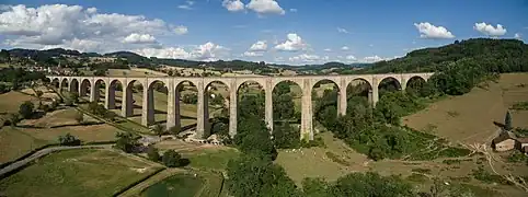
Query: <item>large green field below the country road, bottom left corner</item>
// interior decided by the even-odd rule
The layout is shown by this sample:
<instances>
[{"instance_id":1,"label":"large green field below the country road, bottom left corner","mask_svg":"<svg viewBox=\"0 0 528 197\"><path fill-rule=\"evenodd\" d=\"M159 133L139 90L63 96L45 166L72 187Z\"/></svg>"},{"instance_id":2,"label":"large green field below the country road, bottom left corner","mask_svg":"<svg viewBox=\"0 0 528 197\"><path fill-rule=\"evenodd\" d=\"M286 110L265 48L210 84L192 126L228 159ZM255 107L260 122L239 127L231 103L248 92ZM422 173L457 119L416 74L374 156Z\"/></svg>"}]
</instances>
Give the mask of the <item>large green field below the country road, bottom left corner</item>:
<instances>
[{"instance_id":1,"label":"large green field below the country road, bottom left corner","mask_svg":"<svg viewBox=\"0 0 528 197\"><path fill-rule=\"evenodd\" d=\"M112 196L157 166L106 150L53 153L0 181L7 196Z\"/></svg>"}]
</instances>

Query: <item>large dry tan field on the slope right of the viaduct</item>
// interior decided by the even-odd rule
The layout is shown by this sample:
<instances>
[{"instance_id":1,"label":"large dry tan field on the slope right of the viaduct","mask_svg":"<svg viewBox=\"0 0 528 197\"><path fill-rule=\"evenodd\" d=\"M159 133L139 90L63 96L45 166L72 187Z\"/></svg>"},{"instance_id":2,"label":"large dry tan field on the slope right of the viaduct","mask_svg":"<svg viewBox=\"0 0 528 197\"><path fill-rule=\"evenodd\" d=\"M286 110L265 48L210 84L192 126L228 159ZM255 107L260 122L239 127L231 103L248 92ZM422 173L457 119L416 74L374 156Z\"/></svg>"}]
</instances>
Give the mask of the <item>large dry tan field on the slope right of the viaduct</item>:
<instances>
[{"instance_id":1,"label":"large dry tan field on the slope right of the viaduct","mask_svg":"<svg viewBox=\"0 0 528 197\"><path fill-rule=\"evenodd\" d=\"M502 74L498 83L486 89L475 88L462 96L452 96L431 104L426 109L404 117L403 124L418 129L433 129L437 136L452 142L490 143L497 135L493 121L504 123L507 109L528 101L528 73ZM515 127L528 128L528 112L512 112Z\"/></svg>"}]
</instances>

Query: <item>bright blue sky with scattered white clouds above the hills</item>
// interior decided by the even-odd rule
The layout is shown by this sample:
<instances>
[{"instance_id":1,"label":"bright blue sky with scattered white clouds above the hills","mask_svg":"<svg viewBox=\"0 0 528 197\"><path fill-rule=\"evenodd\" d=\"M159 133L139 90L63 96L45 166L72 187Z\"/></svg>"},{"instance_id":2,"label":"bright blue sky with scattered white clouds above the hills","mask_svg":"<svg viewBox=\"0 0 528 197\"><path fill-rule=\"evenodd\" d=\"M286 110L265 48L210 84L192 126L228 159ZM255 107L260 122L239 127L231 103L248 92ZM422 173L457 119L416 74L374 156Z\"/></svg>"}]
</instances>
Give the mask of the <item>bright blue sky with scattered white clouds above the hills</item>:
<instances>
[{"instance_id":1,"label":"bright blue sky with scattered white clouds above the hills","mask_svg":"<svg viewBox=\"0 0 528 197\"><path fill-rule=\"evenodd\" d=\"M526 40L528 36L525 0L4 0L2 4L1 48L130 50L196 60L372 62L456 39Z\"/></svg>"}]
</instances>

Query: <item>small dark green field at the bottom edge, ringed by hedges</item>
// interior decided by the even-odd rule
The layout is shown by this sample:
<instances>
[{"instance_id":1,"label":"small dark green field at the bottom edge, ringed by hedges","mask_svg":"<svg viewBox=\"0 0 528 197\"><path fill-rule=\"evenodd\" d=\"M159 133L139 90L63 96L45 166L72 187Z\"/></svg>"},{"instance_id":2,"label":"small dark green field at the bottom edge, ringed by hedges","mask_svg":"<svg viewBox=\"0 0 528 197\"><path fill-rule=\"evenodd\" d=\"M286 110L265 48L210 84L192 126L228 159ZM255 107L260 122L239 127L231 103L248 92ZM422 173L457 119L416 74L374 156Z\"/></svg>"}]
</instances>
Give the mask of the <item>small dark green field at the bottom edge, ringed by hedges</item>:
<instances>
[{"instance_id":1,"label":"small dark green field at the bottom edge, ringed by hedges","mask_svg":"<svg viewBox=\"0 0 528 197\"><path fill-rule=\"evenodd\" d=\"M142 196L177 196L194 197L200 192L205 181L192 174L176 174L148 187Z\"/></svg>"}]
</instances>

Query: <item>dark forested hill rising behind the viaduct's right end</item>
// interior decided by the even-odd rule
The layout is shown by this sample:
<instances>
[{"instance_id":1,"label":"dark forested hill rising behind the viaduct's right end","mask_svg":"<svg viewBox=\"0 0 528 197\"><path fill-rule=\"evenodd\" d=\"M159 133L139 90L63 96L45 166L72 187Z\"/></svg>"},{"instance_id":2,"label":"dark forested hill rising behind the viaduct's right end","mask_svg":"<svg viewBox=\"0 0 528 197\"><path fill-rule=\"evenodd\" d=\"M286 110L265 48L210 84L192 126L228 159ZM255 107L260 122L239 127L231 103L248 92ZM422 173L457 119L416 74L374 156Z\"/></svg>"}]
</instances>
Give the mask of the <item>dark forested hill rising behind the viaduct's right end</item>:
<instances>
[{"instance_id":1,"label":"dark forested hill rising behind the viaduct's right end","mask_svg":"<svg viewBox=\"0 0 528 197\"><path fill-rule=\"evenodd\" d=\"M518 39L471 38L437 48L424 48L405 57L380 61L358 72L427 72L459 60L483 66L492 72L528 71L528 45Z\"/></svg>"}]
</instances>

